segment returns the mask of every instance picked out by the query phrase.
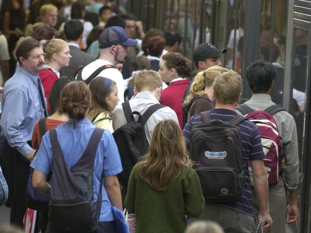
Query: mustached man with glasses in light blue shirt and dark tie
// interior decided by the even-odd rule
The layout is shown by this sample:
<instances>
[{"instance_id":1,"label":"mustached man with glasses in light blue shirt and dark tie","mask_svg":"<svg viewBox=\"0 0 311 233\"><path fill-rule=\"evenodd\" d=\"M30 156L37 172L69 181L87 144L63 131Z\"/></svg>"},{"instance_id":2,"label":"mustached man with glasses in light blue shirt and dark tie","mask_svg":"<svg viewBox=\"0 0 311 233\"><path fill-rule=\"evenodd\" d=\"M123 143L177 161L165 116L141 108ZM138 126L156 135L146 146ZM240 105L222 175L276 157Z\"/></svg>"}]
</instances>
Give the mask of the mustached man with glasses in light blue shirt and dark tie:
<instances>
[{"instance_id":1,"label":"mustached man with glasses in light blue shirt and dark tie","mask_svg":"<svg viewBox=\"0 0 311 233\"><path fill-rule=\"evenodd\" d=\"M32 131L37 120L48 116L38 76L44 69L45 53L39 41L22 37L16 43L13 55L21 67L4 84L0 125L5 141L1 167L9 183L10 223L22 227L29 164L35 154L31 146Z\"/></svg>"}]
</instances>

